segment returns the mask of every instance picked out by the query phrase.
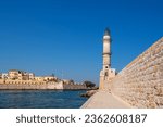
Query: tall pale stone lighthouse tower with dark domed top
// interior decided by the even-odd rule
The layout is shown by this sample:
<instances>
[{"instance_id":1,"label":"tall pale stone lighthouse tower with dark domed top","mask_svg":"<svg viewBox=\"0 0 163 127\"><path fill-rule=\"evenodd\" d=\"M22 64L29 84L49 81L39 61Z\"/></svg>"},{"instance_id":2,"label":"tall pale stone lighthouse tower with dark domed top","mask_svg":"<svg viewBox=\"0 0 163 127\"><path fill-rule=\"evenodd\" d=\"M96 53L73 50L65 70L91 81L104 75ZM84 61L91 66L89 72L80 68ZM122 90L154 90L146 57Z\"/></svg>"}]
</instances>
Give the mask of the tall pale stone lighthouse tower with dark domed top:
<instances>
[{"instance_id":1,"label":"tall pale stone lighthouse tower with dark domed top","mask_svg":"<svg viewBox=\"0 0 163 127\"><path fill-rule=\"evenodd\" d=\"M103 35L103 67L100 72L100 90L110 90L110 81L115 77L115 69L111 68L111 34L106 28Z\"/></svg>"}]
</instances>

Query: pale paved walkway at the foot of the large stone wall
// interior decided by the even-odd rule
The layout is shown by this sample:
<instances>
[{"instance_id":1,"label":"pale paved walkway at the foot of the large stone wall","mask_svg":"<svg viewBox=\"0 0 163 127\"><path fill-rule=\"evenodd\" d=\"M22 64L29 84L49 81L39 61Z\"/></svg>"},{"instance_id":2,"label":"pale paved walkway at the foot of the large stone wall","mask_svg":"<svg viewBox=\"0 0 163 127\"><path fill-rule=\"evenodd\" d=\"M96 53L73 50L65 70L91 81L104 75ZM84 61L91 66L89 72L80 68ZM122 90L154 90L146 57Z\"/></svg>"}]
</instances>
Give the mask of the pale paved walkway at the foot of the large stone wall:
<instances>
[{"instance_id":1,"label":"pale paved walkway at the foot of the large stone wall","mask_svg":"<svg viewBox=\"0 0 163 127\"><path fill-rule=\"evenodd\" d=\"M98 91L82 106L82 109L130 109L123 100L109 91Z\"/></svg>"}]
</instances>

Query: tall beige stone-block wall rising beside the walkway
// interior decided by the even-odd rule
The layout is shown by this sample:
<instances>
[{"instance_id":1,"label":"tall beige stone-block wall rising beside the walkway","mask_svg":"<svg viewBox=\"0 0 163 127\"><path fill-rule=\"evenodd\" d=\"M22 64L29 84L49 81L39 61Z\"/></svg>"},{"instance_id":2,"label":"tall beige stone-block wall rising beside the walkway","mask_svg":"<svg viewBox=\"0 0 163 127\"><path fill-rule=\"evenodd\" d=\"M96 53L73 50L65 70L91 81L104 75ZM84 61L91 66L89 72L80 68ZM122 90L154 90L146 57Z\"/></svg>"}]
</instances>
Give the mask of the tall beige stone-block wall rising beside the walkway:
<instances>
[{"instance_id":1,"label":"tall beige stone-block wall rising beside the walkway","mask_svg":"<svg viewBox=\"0 0 163 127\"><path fill-rule=\"evenodd\" d=\"M111 91L134 107L163 107L163 37L112 80Z\"/></svg>"}]
</instances>

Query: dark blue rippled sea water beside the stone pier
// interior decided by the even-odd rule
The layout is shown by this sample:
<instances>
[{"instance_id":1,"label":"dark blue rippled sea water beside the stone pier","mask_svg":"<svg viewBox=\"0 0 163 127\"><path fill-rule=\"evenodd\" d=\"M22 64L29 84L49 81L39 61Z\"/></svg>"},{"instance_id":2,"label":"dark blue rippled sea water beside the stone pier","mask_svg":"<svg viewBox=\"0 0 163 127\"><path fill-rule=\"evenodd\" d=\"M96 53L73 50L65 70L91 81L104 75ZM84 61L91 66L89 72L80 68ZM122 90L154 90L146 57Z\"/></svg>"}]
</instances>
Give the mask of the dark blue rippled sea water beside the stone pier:
<instances>
[{"instance_id":1,"label":"dark blue rippled sea water beside the stone pier","mask_svg":"<svg viewBox=\"0 0 163 127\"><path fill-rule=\"evenodd\" d=\"M85 90L0 90L1 109L78 109Z\"/></svg>"}]
</instances>

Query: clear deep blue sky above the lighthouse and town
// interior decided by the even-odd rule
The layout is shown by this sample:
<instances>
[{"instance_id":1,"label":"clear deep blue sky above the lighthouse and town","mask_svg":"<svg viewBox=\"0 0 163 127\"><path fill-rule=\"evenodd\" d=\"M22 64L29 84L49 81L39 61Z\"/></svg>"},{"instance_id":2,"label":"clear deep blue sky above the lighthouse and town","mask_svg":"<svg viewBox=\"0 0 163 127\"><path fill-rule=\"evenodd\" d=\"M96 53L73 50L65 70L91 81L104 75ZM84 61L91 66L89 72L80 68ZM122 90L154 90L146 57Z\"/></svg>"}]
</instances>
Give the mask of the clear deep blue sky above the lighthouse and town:
<instances>
[{"instance_id":1,"label":"clear deep blue sky above the lighthouse and town","mask_svg":"<svg viewBox=\"0 0 163 127\"><path fill-rule=\"evenodd\" d=\"M0 72L98 84L105 27L120 72L163 36L163 0L0 0Z\"/></svg>"}]
</instances>

